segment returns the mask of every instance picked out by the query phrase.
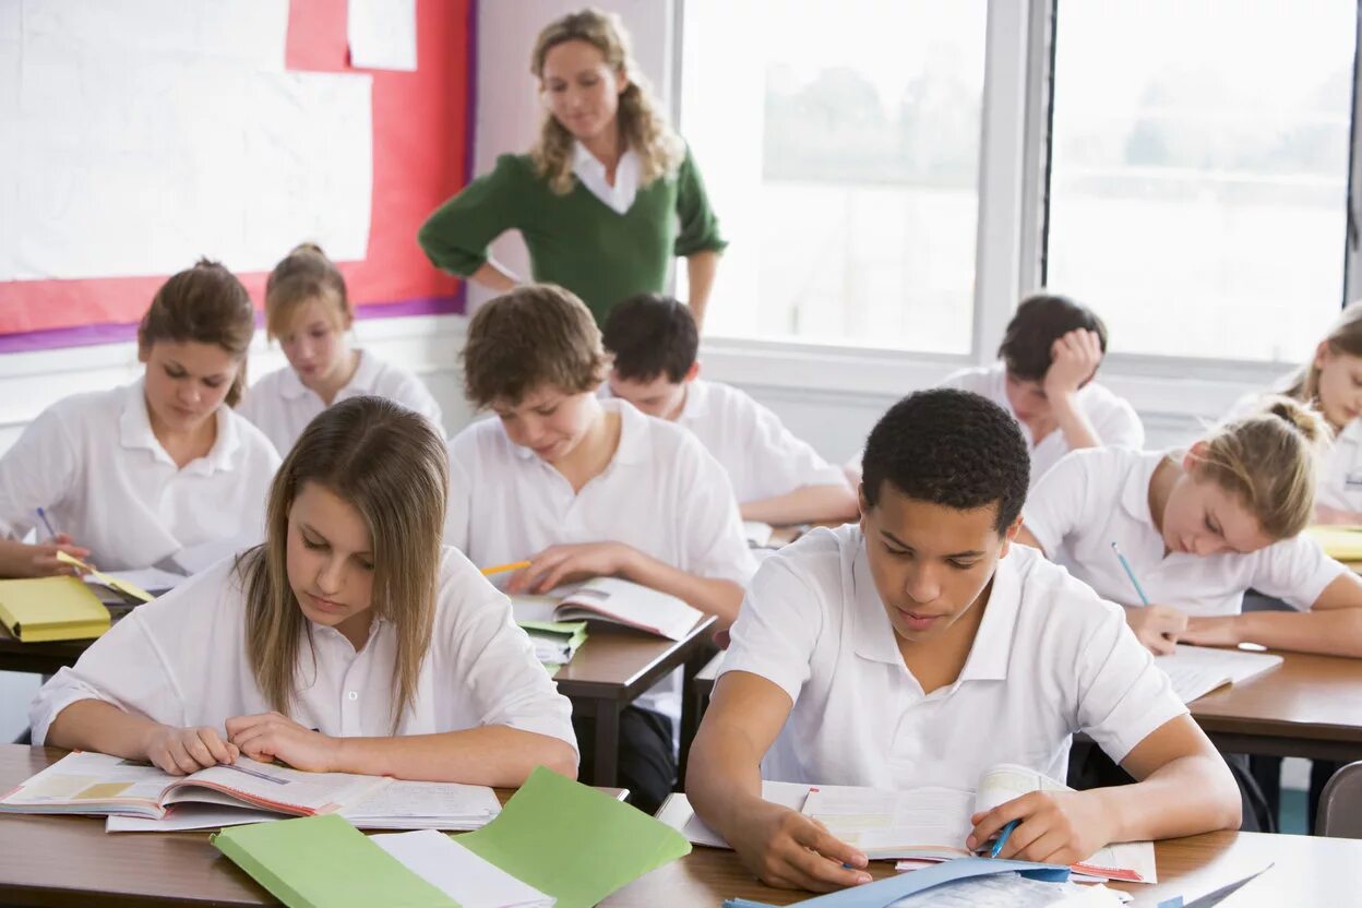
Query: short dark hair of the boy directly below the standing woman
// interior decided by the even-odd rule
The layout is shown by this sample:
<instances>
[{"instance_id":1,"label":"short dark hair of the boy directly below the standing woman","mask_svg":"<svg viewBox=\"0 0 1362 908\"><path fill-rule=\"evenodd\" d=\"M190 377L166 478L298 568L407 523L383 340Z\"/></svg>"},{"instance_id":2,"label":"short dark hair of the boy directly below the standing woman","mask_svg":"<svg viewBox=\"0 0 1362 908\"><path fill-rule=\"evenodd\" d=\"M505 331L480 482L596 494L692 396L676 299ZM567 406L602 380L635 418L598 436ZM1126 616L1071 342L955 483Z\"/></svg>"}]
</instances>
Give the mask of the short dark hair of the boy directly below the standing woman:
<instances>
[{"instance_id":1,"label":"short dark hair of the boy directly below the standing woman","mask_svg":"<svg viewBox=\"0 0 1362 908\"><path fill-rule=\"evenodd\" d=\"M602 328L614 373L628 381L652 381L666 374L685 378L700 350L700 331L691 306L661 293L640 293L610 309Z\"/></svg>"}]
</instances>

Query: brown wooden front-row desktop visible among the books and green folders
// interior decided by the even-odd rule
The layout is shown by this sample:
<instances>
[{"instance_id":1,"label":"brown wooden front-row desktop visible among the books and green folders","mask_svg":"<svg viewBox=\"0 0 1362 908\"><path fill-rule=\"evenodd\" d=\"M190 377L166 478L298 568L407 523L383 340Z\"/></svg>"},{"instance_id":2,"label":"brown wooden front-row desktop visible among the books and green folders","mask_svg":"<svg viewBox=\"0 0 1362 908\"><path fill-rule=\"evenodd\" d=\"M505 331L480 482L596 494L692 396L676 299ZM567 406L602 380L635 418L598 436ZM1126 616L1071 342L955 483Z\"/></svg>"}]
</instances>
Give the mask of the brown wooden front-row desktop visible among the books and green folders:
<instances>
[{"instance_id":1,"label":"brown wooden front-row desktop visible among the books and green folders","mask_svg":"<svg viewBox=\"0 0 1362 908\"><path fill-rule=\"evenodd\" d=\"M0 746L0 791L39 772L63 751ZM497 792L505 796L509 792ZM616 792L618 794L618 792ZM1156 886L1124 885L1137 907L1174 894L1196 897L1275 863L1230 905L1346 904L1362 892L1362 841L1212 833L1156 845ZM877 877L893 873L876 862ZM606 908L716 908L741 896L785 905L809 893L756 882L737 855L696 848L614 896ZM274 905L274 898L208 844L206 833L123 833L104 830L102 817L0 815L0 904L125 908L147 904Z\"/></svg>"}]
</instances>

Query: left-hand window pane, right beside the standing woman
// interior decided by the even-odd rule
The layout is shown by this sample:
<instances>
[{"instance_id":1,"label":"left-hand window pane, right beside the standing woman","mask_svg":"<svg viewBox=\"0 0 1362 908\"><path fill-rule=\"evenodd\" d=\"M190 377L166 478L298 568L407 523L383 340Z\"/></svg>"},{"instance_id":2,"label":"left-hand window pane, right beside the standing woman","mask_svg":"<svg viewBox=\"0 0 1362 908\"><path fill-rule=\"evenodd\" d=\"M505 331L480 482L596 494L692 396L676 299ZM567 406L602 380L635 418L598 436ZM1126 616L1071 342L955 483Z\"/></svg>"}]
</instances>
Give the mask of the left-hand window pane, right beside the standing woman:
<instances>
[{"instance_id":1,"label":"left-hand window pane, right beside the standing woman","mask_svg":"<svg viewBox=\"0 0 1362 908\"><path fill-rule=\"evenodd\" d=\"M731 241L707 334L970 350L985 10L686 1L682 133Z\"/></svg>"}]
</instances>

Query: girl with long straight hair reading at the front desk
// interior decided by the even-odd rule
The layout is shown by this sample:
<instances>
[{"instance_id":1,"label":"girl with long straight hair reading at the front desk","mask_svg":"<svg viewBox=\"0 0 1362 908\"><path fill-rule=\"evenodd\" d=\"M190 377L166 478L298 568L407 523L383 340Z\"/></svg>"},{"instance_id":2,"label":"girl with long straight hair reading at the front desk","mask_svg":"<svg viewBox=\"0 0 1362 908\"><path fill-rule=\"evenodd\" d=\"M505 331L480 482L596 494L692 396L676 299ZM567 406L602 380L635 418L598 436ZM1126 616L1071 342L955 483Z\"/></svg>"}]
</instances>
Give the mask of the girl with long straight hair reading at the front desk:
<instances>
[{"instance_id":1,"label":"girl with long straight hair reading at the front desk","mask_svg":"<svg viewBox=\"0 0 1362 908\"><path fill-rule=\"evenodd\" d=\"M264 545L63 668L34 742L170 773L245 754L485 785L575 775L568 701L505 596L440 545L447 483L422 417L381 398L326 410L270 489Z\"/></svg>"}]
</instances>

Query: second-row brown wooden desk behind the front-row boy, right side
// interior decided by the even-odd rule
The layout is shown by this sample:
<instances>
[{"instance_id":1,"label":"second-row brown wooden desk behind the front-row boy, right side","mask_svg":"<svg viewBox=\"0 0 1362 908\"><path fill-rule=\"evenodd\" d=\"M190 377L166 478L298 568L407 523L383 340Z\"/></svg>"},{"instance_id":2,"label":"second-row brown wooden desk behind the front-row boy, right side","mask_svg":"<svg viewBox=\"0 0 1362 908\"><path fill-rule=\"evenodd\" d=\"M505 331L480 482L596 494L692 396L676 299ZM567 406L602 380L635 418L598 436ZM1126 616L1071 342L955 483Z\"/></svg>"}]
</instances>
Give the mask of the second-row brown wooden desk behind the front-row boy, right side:
<instances>
[{"instance_id":1,"label":"second-row brown wooden desk behind the front-row boy, right side","mask_svg":"<svg viewBox=\"0 0 1362 908\"><path fill-rule=\"evenodd\" d=\"M1362 760L1362 659L1278 652L1279 667L1212 690L1190 704L1192 717L1224 753ZM719 659L696 672L688 697L703 707Z\"/></svg>"}]
</instances>

